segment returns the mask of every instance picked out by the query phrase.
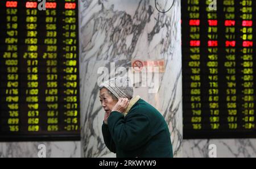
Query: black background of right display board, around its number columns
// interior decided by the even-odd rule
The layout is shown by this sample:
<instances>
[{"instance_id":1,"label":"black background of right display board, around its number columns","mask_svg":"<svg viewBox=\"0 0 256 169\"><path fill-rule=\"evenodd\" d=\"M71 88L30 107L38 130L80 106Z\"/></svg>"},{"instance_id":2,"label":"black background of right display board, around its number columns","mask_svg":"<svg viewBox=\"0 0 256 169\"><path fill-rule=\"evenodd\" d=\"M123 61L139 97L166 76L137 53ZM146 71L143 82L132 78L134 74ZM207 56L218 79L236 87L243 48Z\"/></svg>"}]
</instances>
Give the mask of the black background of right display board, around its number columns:
<instances>
[{"instance_id":1,"label":"black background of right display board, around its number columns","mask_svg":"<svg viewBox=\"0 0 256 169\"><path fill-rule=\"evenodd\" d=\"M209 80L208 80L208 67L207 67L207 61L208 60L208 51L207 51L207 41L208 41L208 18L207 18L207 11L205 10L207 5L206 1L199 1L200 2L200 41L201 41L201 46L200 46L200 77L201 77L201 112L202 112L202 129L201 130L195 130L192 129L192 122L191 122L191 117L192 117L192 112L191 112L191 79L190 75L191 73L191 67L188 66L188 62L191 61L189 57L189 41L191 40L189 38L189 11L187 10L188 7L188 1L181 1L181 18L182 18L182 54L183 54L183 136L184 139L194 139L194 138L256 138L256 129L244 129L242 128L242 104L244 101L242 100L243 98L243 90L244 88L242 87L242 68L243 66L241 65L243 60L241 56L243 55L241 53L242 49L242 39L240 36L243 34L240 29L242 28L242 19L240 16L242 15L242 12L240 9L242 8L242 5L240 2L242 1L235 1L235 7L236 7L236 90L237 90L237 117L238 117L238 128L237 129L229 129L228 128L228 122L226 120L226 117L228 116L227 113L227 107L226 107L226 67L224 66L225 62L225 14L224 14L224 5L223 5L223 0L217 1L217 16L218 16L218 104L219 104L219 110L220 110L220 128L217 130L212 130L210 129L210 121L209 121L209 102L208 102L208 90L209 90ZM256 7L256 2L253 2L253 9ZM253 35L255 34L255 24L256 24L256 14L255 10L253 10ZM228 19L227 19L228 20ZM255 45L255 37L253 37L253 43ZM253 48L254 48L253 45ZM253 56L255 57L255 52L256 50L254 49L253 51ZM256 64L255 64L255 58L253 58L253 76L254 76L254 84L256 84L255 81L255 76L256 76ZM255 89L255 88L254 88ZM255 97L255 91L254 91L254 97ZM255 99L254 102L255 104ZM254 106L254 111L255 111L255 106ZM254 113L255 117L255 113ZM255 120L254 120L255 124Z\"/></svg>"}]
</instances>

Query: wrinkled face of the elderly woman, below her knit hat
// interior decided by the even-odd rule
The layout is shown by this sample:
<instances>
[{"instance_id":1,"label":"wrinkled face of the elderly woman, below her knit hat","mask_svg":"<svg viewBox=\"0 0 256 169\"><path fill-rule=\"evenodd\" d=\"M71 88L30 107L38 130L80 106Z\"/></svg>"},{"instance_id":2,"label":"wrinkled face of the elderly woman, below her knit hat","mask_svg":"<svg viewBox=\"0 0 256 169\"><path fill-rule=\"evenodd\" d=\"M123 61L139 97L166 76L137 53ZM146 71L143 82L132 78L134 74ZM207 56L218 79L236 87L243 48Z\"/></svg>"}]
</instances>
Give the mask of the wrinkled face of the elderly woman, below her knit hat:
<instances>
[{"instance_id":1,"label":"wrinkled face of the elderly woman, below her knit hat","mask_svg":"<svg viewBox=\"0 0 256 169\"><path fill-rule=\"evenodd\" d=\"M106 88L100 90L100 101L106 113L110 113L118 100L113 100L112 96Z\"/></svg>"}]
</instances>

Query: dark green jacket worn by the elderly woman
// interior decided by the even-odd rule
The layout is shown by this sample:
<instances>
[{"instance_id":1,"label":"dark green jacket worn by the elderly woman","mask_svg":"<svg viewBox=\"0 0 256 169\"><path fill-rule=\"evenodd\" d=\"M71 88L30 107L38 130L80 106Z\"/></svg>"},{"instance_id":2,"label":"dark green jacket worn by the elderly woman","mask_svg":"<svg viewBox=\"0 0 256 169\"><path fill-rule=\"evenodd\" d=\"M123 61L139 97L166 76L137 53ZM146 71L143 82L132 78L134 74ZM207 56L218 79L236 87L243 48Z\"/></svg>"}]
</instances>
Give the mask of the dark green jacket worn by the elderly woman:
<instances>
[{"instance_id":1,"label":"dark green jacket worn by the elderly woman","mask_svg":"<svg viewBox=\"0 0 256 169\"><path fill-rule=\"evenodd\" d=\"M173 157L164 117L142 99L131 105L126 116L113 111L108 125L102 124L102 134L106 146L117 157Z\"/></svg>"}]
</instances>

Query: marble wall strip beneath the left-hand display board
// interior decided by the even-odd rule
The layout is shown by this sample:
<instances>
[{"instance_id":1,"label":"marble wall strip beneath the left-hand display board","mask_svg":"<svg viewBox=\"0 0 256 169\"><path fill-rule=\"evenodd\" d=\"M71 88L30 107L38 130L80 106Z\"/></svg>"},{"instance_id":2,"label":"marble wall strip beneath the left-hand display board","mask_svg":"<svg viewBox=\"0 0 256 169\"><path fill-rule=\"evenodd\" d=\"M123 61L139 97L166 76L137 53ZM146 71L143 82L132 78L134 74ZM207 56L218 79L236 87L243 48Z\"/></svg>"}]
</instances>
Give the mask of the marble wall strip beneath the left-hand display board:
<instances>
[{"instance_id":1,"label":"marble wall strip beneath the left-hand display board","mask_svg":"<svg viewBox=\"0 0 256 169\"><path fill-rule=\"evenodd\" d=\"M38 158L38 146L46 146L47 158L81 157L80 141L65 142L0 142L0 158Z\"/></svg>"}]
</instances>

